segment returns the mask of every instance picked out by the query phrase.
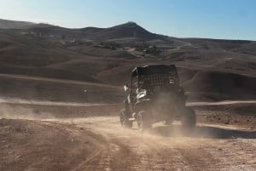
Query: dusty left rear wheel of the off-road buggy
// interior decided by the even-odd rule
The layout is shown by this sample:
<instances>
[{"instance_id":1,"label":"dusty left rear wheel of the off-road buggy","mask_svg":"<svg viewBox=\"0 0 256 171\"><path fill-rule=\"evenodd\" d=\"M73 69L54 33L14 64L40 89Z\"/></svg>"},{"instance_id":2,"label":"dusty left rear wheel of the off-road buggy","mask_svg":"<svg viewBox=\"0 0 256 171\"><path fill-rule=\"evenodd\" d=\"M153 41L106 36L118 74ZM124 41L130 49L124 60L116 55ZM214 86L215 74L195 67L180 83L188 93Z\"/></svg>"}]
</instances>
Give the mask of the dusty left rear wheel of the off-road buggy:
<instances>
[{"instance_id":1,"label":"dusty left rear wheel of the off-road buggy","mask_svg":"<svg viewBox=\"0 0 256 171\"><path fill-rule=\"evenodd\" d=\"M151 128L151 124L149 123L148 113L146 111L139 111L137 114L137 127L143 132Z\"/></svg>"}]
</instances>

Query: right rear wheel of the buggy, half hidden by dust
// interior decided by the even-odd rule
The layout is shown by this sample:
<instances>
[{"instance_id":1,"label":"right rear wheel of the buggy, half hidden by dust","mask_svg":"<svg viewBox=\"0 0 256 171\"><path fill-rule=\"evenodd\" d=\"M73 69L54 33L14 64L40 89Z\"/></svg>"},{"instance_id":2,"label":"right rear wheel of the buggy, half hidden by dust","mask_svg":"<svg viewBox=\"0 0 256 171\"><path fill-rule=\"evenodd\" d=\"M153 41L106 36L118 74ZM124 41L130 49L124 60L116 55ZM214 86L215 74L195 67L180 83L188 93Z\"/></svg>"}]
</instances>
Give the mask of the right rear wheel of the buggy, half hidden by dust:
<instances>
[{"instance_id":1,"label":"right rear wheel of the buggy, half hidden by dust","mask_svg":"<svg viewBox=\"0 0 256 171\"><path fill-rule=\"evenodd\" d=\"M191 107L185 107L181 122L187 130L195 128L195 111Z\"/></svg>"}]
</instances>

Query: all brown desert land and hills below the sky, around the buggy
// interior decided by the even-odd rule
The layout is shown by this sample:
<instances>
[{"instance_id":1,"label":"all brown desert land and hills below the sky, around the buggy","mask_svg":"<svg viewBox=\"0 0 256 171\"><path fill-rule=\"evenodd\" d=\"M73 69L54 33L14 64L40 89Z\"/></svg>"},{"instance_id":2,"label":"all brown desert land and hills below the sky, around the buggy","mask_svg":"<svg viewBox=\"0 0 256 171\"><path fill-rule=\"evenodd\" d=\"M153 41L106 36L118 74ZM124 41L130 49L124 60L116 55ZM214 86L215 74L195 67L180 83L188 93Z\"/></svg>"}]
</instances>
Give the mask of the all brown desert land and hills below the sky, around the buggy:
<instances>
[{"instance_id":1,"label":"all brown desert land and hills below the sky, around the buggy","mask_svg":"<svg viewBox=\"0 0 256 171\"><path fill-rule=\"evenodd\" d=\"M256 170L255 49L0 20L0 170ZM132 68L156 64L177 66L195 130L120 126Z\"/></svg>"}]
</instances>

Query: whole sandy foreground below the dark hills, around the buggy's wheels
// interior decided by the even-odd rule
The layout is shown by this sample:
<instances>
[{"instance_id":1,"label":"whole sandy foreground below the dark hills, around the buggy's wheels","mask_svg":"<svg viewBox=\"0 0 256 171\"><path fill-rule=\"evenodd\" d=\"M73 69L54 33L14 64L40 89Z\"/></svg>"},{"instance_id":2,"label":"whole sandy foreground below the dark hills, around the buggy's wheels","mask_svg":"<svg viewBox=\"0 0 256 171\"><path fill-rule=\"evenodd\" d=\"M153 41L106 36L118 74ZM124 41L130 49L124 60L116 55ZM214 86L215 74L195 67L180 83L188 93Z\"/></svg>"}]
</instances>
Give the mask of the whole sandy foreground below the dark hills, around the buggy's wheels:
<instances>
[{"instance_id":1,"label":"whole sandy foreground below the dark hills, around the buggy's wheels","mask_svg":"<svg viewBox=\"0 0 256 171\"><path fill-rule=\"evenodd\" d=\"M256 169L256 128L246 123L255 125L255 116L225 124L209 117L214 111L198 110L192 133L177 122L141 134L136 123L120 127L120 107L1 103L1 117L17 115L0 120L0 170Z\"/></svg>"}]
</instances>

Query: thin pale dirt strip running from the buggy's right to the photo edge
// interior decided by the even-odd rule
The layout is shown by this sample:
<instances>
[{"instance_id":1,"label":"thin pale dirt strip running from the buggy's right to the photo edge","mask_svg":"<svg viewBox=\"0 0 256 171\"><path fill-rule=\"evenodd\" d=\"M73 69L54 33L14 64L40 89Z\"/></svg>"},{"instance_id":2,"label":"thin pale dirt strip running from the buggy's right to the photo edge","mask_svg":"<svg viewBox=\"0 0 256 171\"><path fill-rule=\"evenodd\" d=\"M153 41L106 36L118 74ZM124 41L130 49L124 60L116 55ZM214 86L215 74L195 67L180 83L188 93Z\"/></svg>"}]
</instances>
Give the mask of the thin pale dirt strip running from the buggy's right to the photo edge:
<instances>
[{"instance_id":1,"label":"thin pale dirt strip running from the buggy's right to the photo edge","mask_svg":"<svg viewBox=\"0 0 256 171\"><path fill-rule=\"evenodd\" d=\"M216 102L189 102L188 106L199 106L199 105L235 105L235 104L256 104L256 100L224 100Z\"/></svg>"}]
</instances>

